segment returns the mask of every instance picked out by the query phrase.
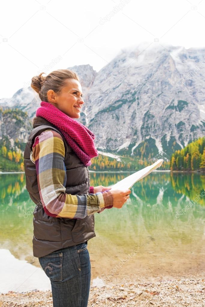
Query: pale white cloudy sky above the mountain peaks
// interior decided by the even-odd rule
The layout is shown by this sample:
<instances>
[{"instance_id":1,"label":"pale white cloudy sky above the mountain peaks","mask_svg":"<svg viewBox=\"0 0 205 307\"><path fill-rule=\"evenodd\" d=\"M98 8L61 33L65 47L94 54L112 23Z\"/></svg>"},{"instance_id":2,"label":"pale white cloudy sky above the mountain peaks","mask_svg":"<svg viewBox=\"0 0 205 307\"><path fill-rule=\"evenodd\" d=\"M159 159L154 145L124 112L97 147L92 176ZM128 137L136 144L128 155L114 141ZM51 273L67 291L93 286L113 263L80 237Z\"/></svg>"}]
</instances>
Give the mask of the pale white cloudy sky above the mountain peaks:
<instances>
[{"instance_id":1,"label":"pale white cloudy sky above the mountain peaks","mask_svg":"<svg viewBox=\"0 0 205 307\"><path fill-rule=\"evenodd\" d=\"M203 48L205 0L3 1L0 25L5 98L43 71L90 64L98 72L141 42Z\"/></svg>"}]
</instances>

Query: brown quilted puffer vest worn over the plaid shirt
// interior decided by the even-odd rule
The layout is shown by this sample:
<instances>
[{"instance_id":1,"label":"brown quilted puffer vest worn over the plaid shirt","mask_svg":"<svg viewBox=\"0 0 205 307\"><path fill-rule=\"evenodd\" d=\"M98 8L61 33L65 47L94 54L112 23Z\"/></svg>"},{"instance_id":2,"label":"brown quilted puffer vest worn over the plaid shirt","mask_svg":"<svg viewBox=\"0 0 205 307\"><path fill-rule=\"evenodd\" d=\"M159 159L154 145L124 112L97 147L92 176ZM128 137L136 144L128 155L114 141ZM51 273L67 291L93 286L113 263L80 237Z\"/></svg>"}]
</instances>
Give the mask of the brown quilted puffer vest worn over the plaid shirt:
<instances>
[{"instance_id":1,"label":"brown quilted puffer vest worn over the plaid shirt","mask_svg":"<svg viewBox=\"0 0 205 307\"><path fill-rule=\"evenodd\" d=\"M36 204L33 212L33 256L42 257L58 249L80 244L95 237L95 220L94 214L83 219L69 219L48 216L44 212L38 190L36 166L30 160L32 145L37 135L48 129L61 134L65 146L66 193L72 195L88 194L90 176L88 168L79 160L56 126L37 116L33 118L33 128L25 146L24 167L26 189L30 198Z\"/></svg>"}]
</instances>

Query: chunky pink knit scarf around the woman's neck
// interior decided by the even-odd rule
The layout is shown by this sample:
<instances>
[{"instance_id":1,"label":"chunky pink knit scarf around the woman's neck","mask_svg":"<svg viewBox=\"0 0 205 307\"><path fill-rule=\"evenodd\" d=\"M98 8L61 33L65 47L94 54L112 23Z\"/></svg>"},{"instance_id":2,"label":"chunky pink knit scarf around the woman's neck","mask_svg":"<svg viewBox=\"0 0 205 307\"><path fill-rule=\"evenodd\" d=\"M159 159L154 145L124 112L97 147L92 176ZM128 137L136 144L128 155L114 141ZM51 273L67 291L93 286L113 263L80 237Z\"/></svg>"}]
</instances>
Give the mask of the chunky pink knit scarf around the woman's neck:
<instances>
[{"instance_id":1,"label":"chunky pink knit scarf around the woman's neck","mask_svg":"<svg viewBox=\"0 0 205 307\"><path fill-rule=\"evenodd\" d=\"M41 107L37 109L36 116L43 117L60 130L67 143L85 166L90 166L91 158L98 156L98 151L93 141L95 134L51 103L41 101Z\"/></svg>"}]
</instances>

